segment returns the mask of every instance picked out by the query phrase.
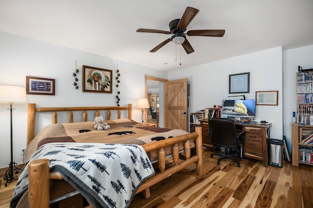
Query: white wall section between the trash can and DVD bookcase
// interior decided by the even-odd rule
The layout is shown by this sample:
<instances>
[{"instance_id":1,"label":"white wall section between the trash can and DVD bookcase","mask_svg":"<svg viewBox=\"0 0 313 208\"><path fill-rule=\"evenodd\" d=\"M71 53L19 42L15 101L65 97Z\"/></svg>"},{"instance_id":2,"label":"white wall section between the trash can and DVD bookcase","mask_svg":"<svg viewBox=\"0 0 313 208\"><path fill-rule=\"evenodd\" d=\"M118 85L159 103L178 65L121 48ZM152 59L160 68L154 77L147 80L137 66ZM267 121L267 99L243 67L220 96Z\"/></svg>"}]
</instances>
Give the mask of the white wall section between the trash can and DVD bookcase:
<instances>
[{"instance_id":1,"label":"white wall section between the trash can and DVD bookcase","mask_svg":"<svg viewBox=\"0 0 313 208\"><path fill-rule=\"evenodd\" d=\"M297 112L296 73L298 66L313 69L313 45L286 50L283 53L284 77L284 135L291 151L291 118Z\"/></svg>"}]
</instances>

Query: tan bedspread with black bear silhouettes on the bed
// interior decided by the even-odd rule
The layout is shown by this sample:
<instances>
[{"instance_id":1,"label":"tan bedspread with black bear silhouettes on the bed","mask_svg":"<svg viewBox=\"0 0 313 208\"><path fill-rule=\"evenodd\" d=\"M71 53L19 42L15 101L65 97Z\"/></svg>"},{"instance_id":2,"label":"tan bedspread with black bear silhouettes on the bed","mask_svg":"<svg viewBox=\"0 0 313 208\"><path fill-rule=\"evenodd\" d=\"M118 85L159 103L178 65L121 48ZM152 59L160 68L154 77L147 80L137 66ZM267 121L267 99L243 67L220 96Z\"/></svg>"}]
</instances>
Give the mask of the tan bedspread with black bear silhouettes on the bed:
<instances>
[{"instance_id":1,"label":"tan bedspread with black bear silhouettes on the bed","mask_svg":"<svg viewBox=\"0 0 313 208\"><path fill-rule=\"evenodd\" d=\"M183 130L171 130L147 126L137 123L133 120L122 118L107 120L111 129L106 131L97 131L94 129L94 122L77 122L77 123L59 123L46 126L36 137L29 143L26 148L24 161L37 150L40 145L47 142L78 142L78 143L110 143L110 144L136 144L145 145L162 139L168 139L179 135L187 134ZM194 140L190 141L194 146ZM184 144L179 143L179 150L184 149ZM166 154L172 153L171 147L165 148ZM149 152L150 160L157 159L158 152Z\"/></svg>"}]
</instances>

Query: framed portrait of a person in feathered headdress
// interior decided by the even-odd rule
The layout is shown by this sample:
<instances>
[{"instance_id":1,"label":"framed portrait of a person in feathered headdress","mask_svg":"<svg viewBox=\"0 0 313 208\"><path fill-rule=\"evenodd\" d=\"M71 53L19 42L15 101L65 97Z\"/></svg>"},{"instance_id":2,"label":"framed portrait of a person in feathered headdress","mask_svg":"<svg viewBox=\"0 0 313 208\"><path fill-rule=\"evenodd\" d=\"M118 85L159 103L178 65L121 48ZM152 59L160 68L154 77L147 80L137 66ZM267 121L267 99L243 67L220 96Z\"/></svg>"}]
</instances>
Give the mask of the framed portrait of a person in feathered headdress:
<instances>
[{"instance_id":1,"label":"framed portrait of a person in feathered headdress","mask_svg":"<svg viewBox=\"0 0 313 208\"><path fill-rule=\"evenodd\" d=\"M83 65L83 92L112 93L112 70Z\"/></svg>"}]
</instances>

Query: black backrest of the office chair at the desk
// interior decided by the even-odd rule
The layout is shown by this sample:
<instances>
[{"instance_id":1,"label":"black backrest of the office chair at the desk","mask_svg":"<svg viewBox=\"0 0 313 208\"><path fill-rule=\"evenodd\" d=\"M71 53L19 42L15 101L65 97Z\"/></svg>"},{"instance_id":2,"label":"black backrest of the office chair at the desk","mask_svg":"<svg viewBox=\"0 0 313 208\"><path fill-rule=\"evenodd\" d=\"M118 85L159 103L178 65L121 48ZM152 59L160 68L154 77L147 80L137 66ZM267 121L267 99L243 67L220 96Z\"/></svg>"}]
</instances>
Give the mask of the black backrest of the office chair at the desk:
<instances>
[{"instance_id":1,"label":"black backrest of the office chair at the desk","mask_svg":"<svg viewBox=\"0 0 313 208\"><path fill-rule=\"evenodd\" d=\"M211 118L208 120L209 138L212 144L222 147L236 147L235 122L227 118Z\"/></svg>"}]
</instances>

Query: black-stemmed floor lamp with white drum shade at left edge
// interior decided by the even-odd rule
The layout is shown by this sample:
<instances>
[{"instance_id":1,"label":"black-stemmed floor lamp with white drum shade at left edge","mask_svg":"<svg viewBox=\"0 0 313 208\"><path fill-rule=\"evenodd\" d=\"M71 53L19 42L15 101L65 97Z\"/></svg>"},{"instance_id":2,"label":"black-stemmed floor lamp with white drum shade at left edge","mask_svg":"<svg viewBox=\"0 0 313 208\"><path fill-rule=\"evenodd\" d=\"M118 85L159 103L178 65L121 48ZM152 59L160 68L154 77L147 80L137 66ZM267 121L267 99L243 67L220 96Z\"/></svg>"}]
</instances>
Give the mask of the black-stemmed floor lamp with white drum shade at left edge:
<instances>
[{"instance_id":1,"label":"black-stemmed floor lamp with white drum shade at left edge","mask_svg":"<svg viewBox=\"0 0 313 208\"><path fill-rule=\"evenodd\" d=\"M12 110L13 104L15 103L26 103L26 89L20 86L13 86L13 85L0 85L0 103L8 103L10 105L10 124L11 124L11 161L9 164L9 169L5 172L4 180L6 183L4 186L7 186L9 183L13 181L13 179L17 179L18 176L15 175L21 170L17 168L13 161L13 128L12 128ZM13 174L13 170L15 170L15 174Z\"/></svg>"}]
</instances>

